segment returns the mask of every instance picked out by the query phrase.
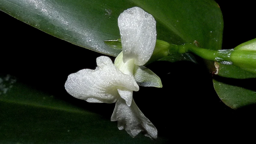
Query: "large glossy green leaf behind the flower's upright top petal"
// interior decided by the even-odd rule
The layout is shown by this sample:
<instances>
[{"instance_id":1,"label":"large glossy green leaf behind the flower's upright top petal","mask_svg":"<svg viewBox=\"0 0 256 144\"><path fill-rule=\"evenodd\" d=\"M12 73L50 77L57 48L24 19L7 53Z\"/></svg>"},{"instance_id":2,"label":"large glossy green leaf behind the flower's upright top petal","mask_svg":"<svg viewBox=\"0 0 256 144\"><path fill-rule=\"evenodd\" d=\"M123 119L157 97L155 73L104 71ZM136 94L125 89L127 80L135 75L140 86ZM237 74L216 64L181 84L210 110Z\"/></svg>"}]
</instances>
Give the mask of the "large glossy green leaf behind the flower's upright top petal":
<instances>
[{"instance_id":1,"label":"large glossy green leaf behind the flower's upright top petal","mask_svg":"<svg viewBox=\"0 0 256 144\"><path fill-rule=\"evenodd\" d=\"M120 38L117 17L134 6L155 17L160 40L170 44L196 40L207 49L220 49L222 42L222 14L212 0L0 0L0 3L0 10L31 26L108 55L117 56L120 49L108 47L104 40Z\"/></svg>"}]
</instances>

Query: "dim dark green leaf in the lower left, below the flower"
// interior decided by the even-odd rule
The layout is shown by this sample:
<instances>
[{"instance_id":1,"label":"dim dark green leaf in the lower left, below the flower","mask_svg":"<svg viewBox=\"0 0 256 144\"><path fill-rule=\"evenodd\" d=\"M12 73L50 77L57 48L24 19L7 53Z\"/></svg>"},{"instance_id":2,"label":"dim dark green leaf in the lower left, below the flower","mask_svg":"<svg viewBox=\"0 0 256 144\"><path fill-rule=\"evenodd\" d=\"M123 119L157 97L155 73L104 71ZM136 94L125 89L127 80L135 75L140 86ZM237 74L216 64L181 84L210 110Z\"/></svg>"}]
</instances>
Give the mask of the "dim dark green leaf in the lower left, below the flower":
<instances>
[{"instance_id":1,"label":"dim dark green leaf in the lower left, below the flower","mask_svg":"<svg viewBox=\"0 0 256 144\"><path fill-rule=\"evenodd\" d=\"M166 143L130 137L99 114L83 110L10 75L0 76L0 143ZM102 104L101 104L102 105ZM113 109L114 110L114 109Z\"/></svg>"}]
</instances>

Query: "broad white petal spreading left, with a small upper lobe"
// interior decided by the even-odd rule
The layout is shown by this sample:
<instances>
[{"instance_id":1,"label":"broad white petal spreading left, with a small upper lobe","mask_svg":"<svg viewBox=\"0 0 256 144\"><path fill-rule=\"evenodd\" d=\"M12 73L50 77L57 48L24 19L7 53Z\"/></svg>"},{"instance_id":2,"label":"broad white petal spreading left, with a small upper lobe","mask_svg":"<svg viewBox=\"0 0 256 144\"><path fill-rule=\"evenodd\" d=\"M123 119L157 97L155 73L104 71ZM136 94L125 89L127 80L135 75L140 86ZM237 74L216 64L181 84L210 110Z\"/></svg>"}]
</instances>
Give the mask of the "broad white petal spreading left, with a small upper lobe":
<instances>
[{"instance_id":1,"label":"broad white petal spreading left, with a small upper lobe","mask_svg":"<svg viewBox=\"0 0 256 144\"><path fill-rule=\"evenodd\" d=\"M118 88L138 91L139 86L131 75L122 73L106 56L97 58L95 70L83 69L68 76L67 92L88 102L114 103L120 98Z\"/></svg>"}]
</instances>

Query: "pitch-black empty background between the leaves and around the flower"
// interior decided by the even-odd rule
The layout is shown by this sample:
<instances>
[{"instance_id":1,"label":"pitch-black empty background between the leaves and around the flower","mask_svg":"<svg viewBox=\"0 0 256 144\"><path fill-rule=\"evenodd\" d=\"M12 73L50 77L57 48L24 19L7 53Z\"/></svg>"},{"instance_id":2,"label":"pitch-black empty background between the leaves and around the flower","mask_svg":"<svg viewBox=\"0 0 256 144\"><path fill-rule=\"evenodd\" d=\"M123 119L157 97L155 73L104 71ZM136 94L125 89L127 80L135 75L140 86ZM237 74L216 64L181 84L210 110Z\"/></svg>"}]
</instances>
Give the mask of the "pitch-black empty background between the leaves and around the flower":
<instances>
[{"instance_id":1,"label":"pitch-black empty background between the leaves and around the flower","mask_svg":"<svg viewBox=\"0 0 256 144\"><path fill-rule=\"evenodd\" d=\"M217 3L224 19L223 49L256 38L252 4ZM95 69L96 58L102 54L55 38L4 12L0 12L0 17L1 73L10 73L35 89L110 119L114 104L87 103L68 95L64 89L70 73L83 68ZM211 73L202 63L154 62L147 67L161 78L163 88L140 87L133 96L141 111L158 128L159 136L169 137L173 132L174 135L208 135L213 130L232 133L235 128L254 124L251 122L255 120L254 107L232 110L223 104L214 91Z\"/></svg>"}]
</instances>

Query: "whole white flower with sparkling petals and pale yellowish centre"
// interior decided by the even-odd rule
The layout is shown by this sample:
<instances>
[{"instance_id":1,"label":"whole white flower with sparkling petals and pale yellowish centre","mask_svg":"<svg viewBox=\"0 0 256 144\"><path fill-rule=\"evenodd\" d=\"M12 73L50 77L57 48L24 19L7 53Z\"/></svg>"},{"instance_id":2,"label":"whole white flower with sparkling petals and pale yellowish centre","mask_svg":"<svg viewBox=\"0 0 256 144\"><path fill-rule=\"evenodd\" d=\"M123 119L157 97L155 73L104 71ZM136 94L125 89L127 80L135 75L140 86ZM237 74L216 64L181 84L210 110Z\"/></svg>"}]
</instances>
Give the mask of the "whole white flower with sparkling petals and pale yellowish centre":
<instances>
[{"instance_id":1,"label":"whole white flower with sparkling petals and pale yellowish centre","mask_svg":"<svg viewBox=\"0 0 256 144\"><path fill-rule=\"evenodd\" d=\"M139 7L124 10L118 17L123 51L114 64L106 56L97 58L95 70L83 69L68 76L67 92L79 99L95 103L114 103L111 121L118 128L135 137L144 131L146 136L157 138L157 129L143 115L133 101L133 91L139 86L134 78L134 67L145 64L156 43L156 22L151 14Z\"/></svg>"}]
</instances>

